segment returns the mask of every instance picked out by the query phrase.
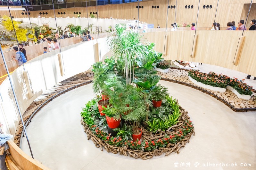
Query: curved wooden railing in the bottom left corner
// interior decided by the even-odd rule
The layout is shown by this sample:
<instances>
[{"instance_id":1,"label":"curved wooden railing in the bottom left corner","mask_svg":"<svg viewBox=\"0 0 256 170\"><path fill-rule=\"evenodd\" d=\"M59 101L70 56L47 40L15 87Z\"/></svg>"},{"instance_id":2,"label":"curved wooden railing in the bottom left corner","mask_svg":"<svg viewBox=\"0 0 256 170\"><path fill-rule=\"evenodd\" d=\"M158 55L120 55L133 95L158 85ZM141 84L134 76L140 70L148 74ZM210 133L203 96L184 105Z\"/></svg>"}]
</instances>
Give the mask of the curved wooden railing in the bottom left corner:
<instances>
[{"instance_id":1,"label":"curved wooden railing in the bottom left corner","mask_svg":"<svg viewBox=\"0 0 256 170\"><path fill-rule=\"evenodd\" d=\"M6 155L6 165L10 170L50 170L39 161L29 157L12 140L8 141L10 156Z\"/></svg>"}]
</instances>

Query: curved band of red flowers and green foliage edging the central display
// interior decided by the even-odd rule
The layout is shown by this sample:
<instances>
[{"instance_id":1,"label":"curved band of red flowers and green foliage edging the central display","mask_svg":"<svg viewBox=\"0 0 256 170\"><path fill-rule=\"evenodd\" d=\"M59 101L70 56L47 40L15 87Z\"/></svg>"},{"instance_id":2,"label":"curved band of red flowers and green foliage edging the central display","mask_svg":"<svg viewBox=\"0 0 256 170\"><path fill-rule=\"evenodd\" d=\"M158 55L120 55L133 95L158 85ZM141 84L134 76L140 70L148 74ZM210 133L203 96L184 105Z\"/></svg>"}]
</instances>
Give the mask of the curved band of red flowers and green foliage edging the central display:
<instances>
[{"instance_id":1,"label":"curved band of red flowers and green foliage edging the central display","mask_svg":"<svg viewBox=\"0 0 256 170\"><path fill-rule=\"evenodd\" d=\"M177 132L174 132L171 135L165 135L161 138L156 138L151 141L137 140L136 142L134 142L130 137L127 138L122 133L114 137L111 136L111 134L106 133L101 126L101 122L98 122L95 119L95 117L97 117L94 116L94 105L95 103L97 103L96 101L97 99L93 99L87 102L86 107L84 107L83 112L81 112L82 119L89 127L90 131L95 135L95 137L114 147L124 147L131 150L140 150L143 152L153 151L161 147L166 147L169 143L176 144L182 141L194 129L193 123L189 120L186 120L183 126L180 127ZM92 121L90 122L90 120Z\"/></svg>"}]
</instances>

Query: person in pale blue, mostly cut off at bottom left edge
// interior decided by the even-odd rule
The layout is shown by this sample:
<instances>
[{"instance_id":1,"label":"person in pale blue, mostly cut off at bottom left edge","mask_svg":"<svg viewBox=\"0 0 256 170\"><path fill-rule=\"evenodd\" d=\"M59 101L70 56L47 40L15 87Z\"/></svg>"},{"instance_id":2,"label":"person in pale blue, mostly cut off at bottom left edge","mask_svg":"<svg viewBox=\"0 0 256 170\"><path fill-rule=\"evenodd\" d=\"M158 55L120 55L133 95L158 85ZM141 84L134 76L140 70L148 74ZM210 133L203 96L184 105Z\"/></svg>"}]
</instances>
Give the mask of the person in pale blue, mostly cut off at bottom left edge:
<instances>
[{"instance_id":1,"label":"person in pale blue, mostly cut off at bottom left edge","mask_svg":"<svg viewBox=\"0 0 256 170\"><path fill-rule=\"evenodd\" d=\"M3 124L0 123L0 127L2 127ZM6 150L9 149L9 145L6 143L8 140L12 139L12 135L10 134L4 134L2 129L0 129L0 147L4 147L4 153L0 155L0 169L1 170L7 170L6 163L5 163L5 157L6 157Z\"/></svg>"}]
</instances>

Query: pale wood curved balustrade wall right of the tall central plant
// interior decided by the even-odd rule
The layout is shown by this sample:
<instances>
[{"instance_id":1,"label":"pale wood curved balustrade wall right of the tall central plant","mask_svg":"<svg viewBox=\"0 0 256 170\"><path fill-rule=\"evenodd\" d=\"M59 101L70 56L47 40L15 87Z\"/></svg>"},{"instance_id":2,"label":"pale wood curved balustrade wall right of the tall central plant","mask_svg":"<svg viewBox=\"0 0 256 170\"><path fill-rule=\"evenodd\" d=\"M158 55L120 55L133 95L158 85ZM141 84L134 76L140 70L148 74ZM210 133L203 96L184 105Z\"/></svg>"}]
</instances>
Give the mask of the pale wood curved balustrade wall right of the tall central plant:
<instances>
[{"instance_id":1,"label":"pale wood curved balustrade wall right of the tall central plant","mask_svg":"<svg viewBox=\"0 0 256 170\"><path fill-rule=\"evenodd\" d=\"M144 36L147 38L147 41L156 43L156 51L163 52L164 38L162 37L164 37L165 32L158 32L158 34L153 33L153 36L151 34L152 33L145 33ZM158 39L156 35L159 36ZM195 57L191 58L193 35L194 31L190 30L167 32L167 54L164 56L164 59L217 65L256 76L256 61L253 52L255 44L252 43L252 41L256 39L255 31L244 32L244 45L237 66L233 64L233 60L239 36L242 35L242 31L198 30Z\"/></svg>"}]
</instances>

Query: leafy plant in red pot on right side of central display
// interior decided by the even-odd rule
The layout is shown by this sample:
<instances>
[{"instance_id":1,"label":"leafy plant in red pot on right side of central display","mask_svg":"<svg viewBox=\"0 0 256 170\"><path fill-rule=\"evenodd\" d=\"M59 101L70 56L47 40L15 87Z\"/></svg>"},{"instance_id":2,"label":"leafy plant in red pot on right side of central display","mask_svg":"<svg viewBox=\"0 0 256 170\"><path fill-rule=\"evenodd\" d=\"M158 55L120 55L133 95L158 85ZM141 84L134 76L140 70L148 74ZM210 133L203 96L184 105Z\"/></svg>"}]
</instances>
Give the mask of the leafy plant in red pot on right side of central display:
<instances>
[{"instance_id":1,"label":"leafy plant in red pot on right side of central display","mask_svg":"<svg viewBox=\"0 0 256 170\"><path fill-rule=\"evenodd\" d=\"M153 98L153 107L161 107L162 99L169 95L167 87L162 85L157 85L157 87L158 88L151 93Z\"/></svg>"}]
</instances>

